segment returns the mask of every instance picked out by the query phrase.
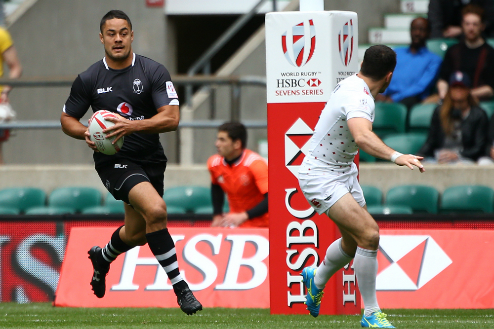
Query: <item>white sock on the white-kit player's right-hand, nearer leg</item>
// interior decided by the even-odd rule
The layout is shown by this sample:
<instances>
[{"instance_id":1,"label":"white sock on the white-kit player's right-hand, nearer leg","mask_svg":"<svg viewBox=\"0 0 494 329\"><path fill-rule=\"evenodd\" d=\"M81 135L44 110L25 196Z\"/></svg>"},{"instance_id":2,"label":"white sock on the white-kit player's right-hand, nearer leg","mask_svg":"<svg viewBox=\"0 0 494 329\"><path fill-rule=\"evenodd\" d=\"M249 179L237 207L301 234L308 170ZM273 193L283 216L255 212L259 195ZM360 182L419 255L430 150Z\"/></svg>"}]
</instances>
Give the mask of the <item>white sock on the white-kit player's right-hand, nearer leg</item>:
<instances>
[{"instance_id":1,"label":"white sock on the white-kit player's right-hand, nearer leg","mask_svg":"<svg viewBox=\"0 0 494 329\"><path fill-rule=\"evenodd\" d=\"M375 277L377 276L377 250L367 250L357 247L357 253L353 261L360 294L364 300L364 315L370 316L374 312L380 312L375 294Z\"/></svg>"}]
</instances>

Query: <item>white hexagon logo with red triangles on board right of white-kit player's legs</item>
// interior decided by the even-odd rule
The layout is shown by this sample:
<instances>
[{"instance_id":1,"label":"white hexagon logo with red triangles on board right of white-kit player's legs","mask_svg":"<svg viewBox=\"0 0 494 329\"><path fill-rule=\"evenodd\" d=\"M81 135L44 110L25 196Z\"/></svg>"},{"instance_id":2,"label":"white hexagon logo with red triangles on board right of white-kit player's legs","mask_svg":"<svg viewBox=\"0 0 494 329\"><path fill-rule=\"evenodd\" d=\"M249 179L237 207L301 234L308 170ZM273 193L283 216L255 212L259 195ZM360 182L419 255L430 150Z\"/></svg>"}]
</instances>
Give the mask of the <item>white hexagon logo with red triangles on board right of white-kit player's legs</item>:
<instances>
[{"instance_id":1,"label":"white hexagon logo with red triangles on board right of white-kit player's legs","mask_svg":"<svg viewBox=\"0 0 494 329\"><path fill-rule=\"evenodd\" d=\"M381 235L376 290L414 291L453 261L429 235Z\"/></svg>"}]
</instances>

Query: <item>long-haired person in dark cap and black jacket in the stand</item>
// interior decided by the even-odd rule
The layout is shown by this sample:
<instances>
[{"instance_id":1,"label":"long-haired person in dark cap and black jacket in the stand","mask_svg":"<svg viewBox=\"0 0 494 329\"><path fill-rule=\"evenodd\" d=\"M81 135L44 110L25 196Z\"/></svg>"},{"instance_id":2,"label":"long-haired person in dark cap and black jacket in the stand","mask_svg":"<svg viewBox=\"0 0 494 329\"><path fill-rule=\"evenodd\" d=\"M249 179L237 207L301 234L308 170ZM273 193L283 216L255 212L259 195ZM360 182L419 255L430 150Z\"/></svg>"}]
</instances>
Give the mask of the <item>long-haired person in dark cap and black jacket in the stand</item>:
<instances>
[{"instance_id":1,"label":"long-haired person in dark cap and black jacket in the stand","mask_svg":"<svg viewBox=\"0 0 494 329\"><path fill-rule=\"evenodd\" d=\"M444 102L432 115L429 136L417 154L439 163L474 163L484 155L489 119L462 72L450 78Z\"/></svg>"}]
</instances>

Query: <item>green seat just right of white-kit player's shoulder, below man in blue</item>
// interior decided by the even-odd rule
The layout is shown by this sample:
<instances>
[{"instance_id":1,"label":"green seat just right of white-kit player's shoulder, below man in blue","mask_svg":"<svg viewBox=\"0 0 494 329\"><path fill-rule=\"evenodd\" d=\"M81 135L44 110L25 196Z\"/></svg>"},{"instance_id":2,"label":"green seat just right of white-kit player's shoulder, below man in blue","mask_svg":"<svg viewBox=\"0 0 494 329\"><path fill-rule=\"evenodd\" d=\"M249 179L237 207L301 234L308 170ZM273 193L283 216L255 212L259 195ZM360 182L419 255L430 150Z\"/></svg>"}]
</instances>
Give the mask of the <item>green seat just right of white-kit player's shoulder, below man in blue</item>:
<instances>
[{"instance_id":1,"label":"green seat just right of white-kit player's shoulder, below man in blue","mask_svg":"<svg viewBox=\"0 0 494 329\"><path fill-rule=\"evenodd\" d=\"M400 103L375 103L375 118L372 130L380 138L389 134L405 132L407 107Z\"/></svg>"}]
</instances>

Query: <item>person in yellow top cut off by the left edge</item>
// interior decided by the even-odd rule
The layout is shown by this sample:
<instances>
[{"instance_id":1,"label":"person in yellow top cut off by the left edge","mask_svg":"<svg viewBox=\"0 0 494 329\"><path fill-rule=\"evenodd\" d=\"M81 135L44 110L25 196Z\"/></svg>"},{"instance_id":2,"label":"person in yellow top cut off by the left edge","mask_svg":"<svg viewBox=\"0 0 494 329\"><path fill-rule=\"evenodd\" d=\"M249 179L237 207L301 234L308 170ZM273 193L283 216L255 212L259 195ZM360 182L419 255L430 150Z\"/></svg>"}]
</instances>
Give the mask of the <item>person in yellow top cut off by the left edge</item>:
<instances>
[{"instance_id":1,"label":"person in yellow top cut off by the left edge","mask_svg":"<svg viewBox=\"0 0 494 329\"><path fill-rule=\"evenodd\" d=\"M17 58L17 51L15 50L12 38L7 30L0 27L0 76L3 76L3 64L8 67L8 77L18 78L22 74L22 67L19 59ZM10 86L0 86L0 106L6 106L6 109L11 111L8 101L8 94L12 90ZM7 110L7 111L8 111ZM0 117L0 121L2 118ZM3 164L2 145L8 140L10 131L8 129L0 129L0 165Z\"/></svg>"}]
</instances>

